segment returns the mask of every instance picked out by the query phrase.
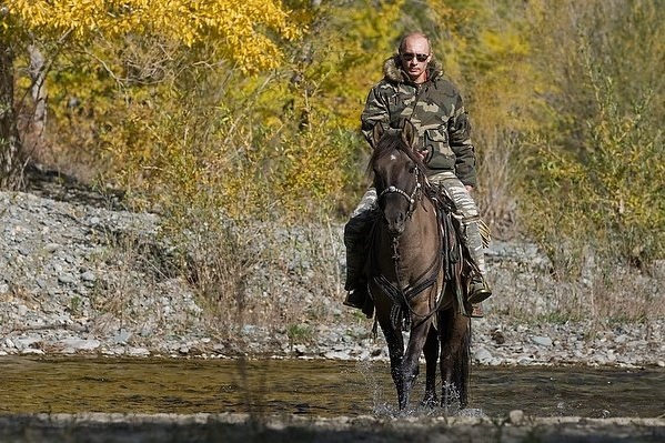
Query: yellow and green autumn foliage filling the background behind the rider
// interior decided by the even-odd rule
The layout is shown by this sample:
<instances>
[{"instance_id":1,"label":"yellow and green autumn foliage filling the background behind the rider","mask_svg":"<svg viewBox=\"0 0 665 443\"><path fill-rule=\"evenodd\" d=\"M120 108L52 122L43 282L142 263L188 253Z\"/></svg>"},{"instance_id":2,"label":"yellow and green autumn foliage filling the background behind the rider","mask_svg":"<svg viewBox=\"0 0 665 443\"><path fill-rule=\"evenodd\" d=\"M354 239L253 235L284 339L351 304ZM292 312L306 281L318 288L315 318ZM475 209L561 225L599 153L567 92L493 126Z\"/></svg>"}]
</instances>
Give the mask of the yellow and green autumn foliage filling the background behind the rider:
<instances>
[{"instance_id":1,"label":"yellow and green autumn foliage filling the background behind the rider","mask_svg":"<svg viewBox=\"0 0 665 443\"><path fill-rule=\"evenodd\" d=\"M399 37L424 30L465 99L495 233L552 245L592 226L629 238L613 250L663 255L656 0L314 3L11 0L1 20L24 44L22 30L63 43L59 152L77 147L140 204L232 217L345 217L367 184L366 93Z\"/></svg>"}]
</instances>

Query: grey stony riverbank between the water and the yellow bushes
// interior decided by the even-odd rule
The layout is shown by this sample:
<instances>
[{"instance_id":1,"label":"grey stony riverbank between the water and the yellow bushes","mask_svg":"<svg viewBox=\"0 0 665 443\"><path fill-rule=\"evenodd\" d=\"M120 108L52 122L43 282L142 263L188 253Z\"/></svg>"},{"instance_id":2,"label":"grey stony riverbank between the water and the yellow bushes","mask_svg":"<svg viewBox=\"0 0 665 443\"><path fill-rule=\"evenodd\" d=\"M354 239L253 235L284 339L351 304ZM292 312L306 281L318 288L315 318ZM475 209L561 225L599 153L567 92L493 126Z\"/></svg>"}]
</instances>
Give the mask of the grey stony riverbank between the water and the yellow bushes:
<instances>
[{"instance_id":1,"label":"grey stony riverbank between the water and the yellow bushes","mask_svg":"<svg viewBox=\"0 0 665 443\"><path fill-rule=\"evenodd\" d=\"M320 303L332 321L309 322L306 340L286 328L251 323L233 340L222 338L182 276L141 261L141 254L169 253L158 215L108 201L62 200L0 193L0 355L386 359L372 322L341 305L341 288L318 294L308 282L313 264L302 261L285 266L281 279L304 294L302 303ZM343 251L341 226L332 232ZM285 256L293 255L293 244L285 242ZM514 242L494 242L487 258L496 295L485 303L486 316L474 321L475 364L665 366L662 316L629 324L592 318L516 322L502 294L512 294L511 305L521 303L522 311L547 312L554 291L547 260L535 246ZM656 283L644 284L663 286Z\"/></svg>"}]
</instances>

